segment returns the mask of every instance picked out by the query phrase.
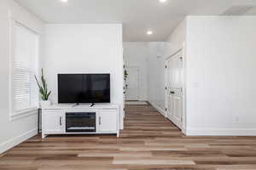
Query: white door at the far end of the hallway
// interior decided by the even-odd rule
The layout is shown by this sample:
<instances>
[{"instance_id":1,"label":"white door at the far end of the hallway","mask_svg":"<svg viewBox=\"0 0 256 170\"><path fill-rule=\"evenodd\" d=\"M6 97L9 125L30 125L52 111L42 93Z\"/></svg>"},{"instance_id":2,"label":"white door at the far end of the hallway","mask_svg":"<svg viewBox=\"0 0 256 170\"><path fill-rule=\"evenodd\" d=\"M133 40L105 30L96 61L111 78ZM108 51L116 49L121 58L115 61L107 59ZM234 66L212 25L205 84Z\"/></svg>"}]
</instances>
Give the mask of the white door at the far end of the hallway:
<instances>
[{"instance_id":1,"label":"white door at the far end of the hallway","mask_svg":"<svg viewBox=\"0 0 256 170\"><path fill-rule=\"evenodd\" d=\"M126 71L128 77L125 84L125 100L138 100L139 99L139 69L137 66L127 66Z\"/></svg>"}]
</instances>

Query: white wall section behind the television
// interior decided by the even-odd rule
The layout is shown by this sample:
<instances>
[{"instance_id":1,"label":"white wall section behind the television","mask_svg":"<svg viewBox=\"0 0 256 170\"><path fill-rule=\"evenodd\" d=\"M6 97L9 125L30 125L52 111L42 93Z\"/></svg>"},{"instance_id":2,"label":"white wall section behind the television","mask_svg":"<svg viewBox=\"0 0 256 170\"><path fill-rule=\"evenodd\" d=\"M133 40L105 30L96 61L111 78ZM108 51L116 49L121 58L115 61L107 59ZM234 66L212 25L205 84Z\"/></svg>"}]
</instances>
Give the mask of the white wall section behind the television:
<instances>
[{"instance_id":1,"label":"white wall section behind the television","mask_svg":"<svg viewBox=\"0 0 256 170\"><path fill-rule=\"evenodd\" d=\"M123 127L122 25L46 25L45 77L57 103L58 73L110 73L111 102L120 108Z\"/></svg>"}]
</instances>

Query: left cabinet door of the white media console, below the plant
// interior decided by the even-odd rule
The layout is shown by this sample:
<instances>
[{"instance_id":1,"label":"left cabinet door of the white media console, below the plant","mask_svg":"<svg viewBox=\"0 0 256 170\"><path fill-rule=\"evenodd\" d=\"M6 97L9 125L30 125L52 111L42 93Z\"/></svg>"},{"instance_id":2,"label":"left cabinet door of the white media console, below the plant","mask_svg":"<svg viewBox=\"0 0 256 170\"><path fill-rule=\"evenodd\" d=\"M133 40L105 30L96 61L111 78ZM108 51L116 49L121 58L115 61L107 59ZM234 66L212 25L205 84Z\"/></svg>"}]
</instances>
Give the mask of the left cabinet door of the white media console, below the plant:
<instances>
[{"instance_id":1,"label":"left cabinet door of the white media console, below the plant","mask_svg":"<svg viewBox=\"0 0 256 170\"><path fill-rule=\"evenodd\" d=\"M44 133L64 133L65 116L62 111L44 111Z\"/></svg>"}]
</instances>

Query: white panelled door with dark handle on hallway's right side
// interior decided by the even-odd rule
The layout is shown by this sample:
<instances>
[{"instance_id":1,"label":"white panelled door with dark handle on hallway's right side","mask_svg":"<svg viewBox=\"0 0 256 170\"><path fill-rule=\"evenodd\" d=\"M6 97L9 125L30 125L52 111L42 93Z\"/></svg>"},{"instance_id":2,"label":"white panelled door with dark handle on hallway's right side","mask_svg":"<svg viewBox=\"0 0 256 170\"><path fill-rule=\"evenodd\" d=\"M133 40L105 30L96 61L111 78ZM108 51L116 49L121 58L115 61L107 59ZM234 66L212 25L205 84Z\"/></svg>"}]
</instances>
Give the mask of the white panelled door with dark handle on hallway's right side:
<instances>
[{"instance_id":1,"label":"white panelled door with dark handle on hallway's right side","mask_svg":"<svg viewBox=\"0 0 256 170\"><path fill-rule=\"evenodd\" d=\"M183 128L183 51L166 59L167 117Z\"/></svg>"}]
</instances>

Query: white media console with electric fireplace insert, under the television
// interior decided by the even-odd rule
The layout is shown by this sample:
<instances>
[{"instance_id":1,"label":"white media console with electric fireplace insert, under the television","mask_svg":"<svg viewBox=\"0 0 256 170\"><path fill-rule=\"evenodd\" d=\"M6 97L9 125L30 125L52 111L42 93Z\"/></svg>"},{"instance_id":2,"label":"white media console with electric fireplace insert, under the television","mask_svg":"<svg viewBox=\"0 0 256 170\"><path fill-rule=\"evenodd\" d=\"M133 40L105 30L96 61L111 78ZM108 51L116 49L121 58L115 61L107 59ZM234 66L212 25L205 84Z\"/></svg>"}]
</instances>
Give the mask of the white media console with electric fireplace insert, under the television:
<instances>
[{"instance_id":1,"label":"white media console with electric fireplace insert, under the television","mask_svg":"<svg viewBox=\"0 0 256 170\"><path fill-rule=\"evenodd\" d=\"M43 139L49 134L88 133L119 137L119 105L50 105L42 109Z\"/></svg>"}]
</instances>

